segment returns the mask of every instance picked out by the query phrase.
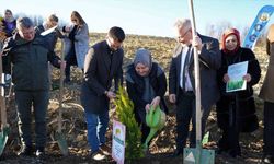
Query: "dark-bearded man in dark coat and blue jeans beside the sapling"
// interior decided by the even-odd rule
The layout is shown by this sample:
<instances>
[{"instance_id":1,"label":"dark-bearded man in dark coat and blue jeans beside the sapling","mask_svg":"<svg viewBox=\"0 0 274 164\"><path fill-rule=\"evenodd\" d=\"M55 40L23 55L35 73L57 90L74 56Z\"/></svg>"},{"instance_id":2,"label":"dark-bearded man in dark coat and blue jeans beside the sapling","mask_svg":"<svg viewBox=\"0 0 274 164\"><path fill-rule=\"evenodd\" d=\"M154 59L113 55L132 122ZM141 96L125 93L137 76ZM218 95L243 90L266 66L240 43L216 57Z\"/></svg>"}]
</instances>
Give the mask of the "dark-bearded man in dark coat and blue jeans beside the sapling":
<instances>
[{"instance_id":1,"label":"dark-bearded man in dark coat and blue jeans beside the sapling","mask_svg":"<svg viewBox=\"0 0 274 164\"><path fill-rule=\"evenodd\" d=\"M109 125L109 104L115 97L111 91L123 83L123 57L121 48L125 33L121 27L112 27L106 39L93 45L84 60L84 80L81 103L88 124L88 141L94 160L105 159L105 132Z\"/></svg>"}]
</instances>

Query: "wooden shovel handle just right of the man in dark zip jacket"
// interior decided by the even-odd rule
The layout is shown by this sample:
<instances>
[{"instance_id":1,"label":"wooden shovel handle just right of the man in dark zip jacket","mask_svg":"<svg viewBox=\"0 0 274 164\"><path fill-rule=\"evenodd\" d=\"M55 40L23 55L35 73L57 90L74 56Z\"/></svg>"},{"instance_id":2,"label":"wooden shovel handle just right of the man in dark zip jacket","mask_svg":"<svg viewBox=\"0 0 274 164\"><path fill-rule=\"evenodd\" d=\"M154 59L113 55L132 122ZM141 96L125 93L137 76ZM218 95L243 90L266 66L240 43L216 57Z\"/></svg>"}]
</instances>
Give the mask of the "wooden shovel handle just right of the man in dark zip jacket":
<instances>
[{"instance_id":1,"label":"wooden shovel handle just right of the man in dark zip jacket","mask_svg":"<svg viewBox=\"0 0 274 164\"><path fill-rule=\"evenodd\" d=\"M64 39L61 39L61 65L64 62ZM58 113L58 132L61 132L62 121L62 94L64 94L64 68L60 67L60 90L59 90L59 113Z\"/></svg>"}]
</instances>

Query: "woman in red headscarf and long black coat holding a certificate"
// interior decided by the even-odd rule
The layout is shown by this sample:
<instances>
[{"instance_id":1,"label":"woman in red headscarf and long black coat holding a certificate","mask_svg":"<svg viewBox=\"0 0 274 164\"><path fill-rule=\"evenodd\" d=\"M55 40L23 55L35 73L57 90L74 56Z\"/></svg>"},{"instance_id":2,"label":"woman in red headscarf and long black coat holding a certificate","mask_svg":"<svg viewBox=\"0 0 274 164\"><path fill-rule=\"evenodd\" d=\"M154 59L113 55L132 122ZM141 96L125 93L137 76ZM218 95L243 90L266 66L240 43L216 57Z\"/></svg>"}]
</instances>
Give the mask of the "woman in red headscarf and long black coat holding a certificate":
<instances>
[{"instance_id":1,"label":"woman in red headscarf and long black coat holding a certificate","mask_svg":"<svg viewBox=\"0 0 274 164\"><path fill-rule=\"evenodd\" d=\"M242 61L248 61L248 72L242 77L247 81L247 89L227 93L226 85L230 80L228 66ZM259 126L252 86L259 82L261 69L253 51L240 47L240 34L236 28L229 28L222 34L221 68L217 74L221 94L216 106L217 121L222 130L218 152L225 151L237 157L241 155L239 133L252 132Z\"/></svg>"}]
</instances>

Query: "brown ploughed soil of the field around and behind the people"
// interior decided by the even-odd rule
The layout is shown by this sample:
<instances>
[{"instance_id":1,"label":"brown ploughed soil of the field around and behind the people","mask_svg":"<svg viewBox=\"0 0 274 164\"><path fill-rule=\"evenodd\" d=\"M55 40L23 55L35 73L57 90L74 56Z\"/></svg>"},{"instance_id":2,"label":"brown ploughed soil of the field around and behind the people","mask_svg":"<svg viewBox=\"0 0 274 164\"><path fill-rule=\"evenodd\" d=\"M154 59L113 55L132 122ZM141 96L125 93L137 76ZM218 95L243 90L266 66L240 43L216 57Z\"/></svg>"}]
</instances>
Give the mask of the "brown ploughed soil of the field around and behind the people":
<instances>
[{"instance_id":1,"label":"brown ploughed soil of the field around and behind the people","mask_svg":"<svg viewBox=\"0 0 274 164\"><path fill-rule=\"evenodd\" d=\"M102 34L92 34L91 40L100 40L104 37ZM138 47L145 47L152 51L153 58L160 62L163 69L168 70L169 61L172 55L172 49L175 42L170 38L149 37L149 36L128 36L124 44L125 47L125 66L133 58L134 51ZM263 58L265 51L261 48L256 48L255 52L260 59L264 77L267 60ZM53 81L58 83L59 71L54 70ZM55 139L55 132L57 130L57 115L58 115L58 90L50 92L50 103L48 107L47 128L48 128L48 144L46 147L46 156L44 159L36 157L22 157L16 156L15 153L20 149L20 139L18 134L16 115L14 99L8 101L8 121L10 124L11 133L5 145L5 150L1 156L1 164L30 164L30 163L55 163L55 164L88 164L99 163L91 159L89 155L89 145L87 142L87 125L84 121L83 109L80 106L79 89L81 83L81 70L72 70L72 83L66 86L64 94L64 120L62 120L62 133L66 136L69 145L69 155L62 156L58 144ZM262 77L262 80L263 80ZM255 95L259 92L260 85L255 86ZM253 133L243 133L240 137L240 144L242 148L242 156L238 159L231 159L227 154L215 156L215 163L217 164L256 164L260 163L262 155L262 102L256 98L258 115L260 118L260 128ZM110 110L111 118L115 116L115 107ZM112 137L112 121L110 122L110 129L107 131L107 144L111 147ZM213 108L208 118L207 130L210 132L210 142L207 149L217 149L216 141L218 141L220 131L216 125L216 113ZM164 129L152 140L149 153L133 163L141 164L178 164L183 163L183 157L172 157L171 154L175 147L175 117L174 106L170 105L170 115ZM111 157L101 163L115 163ZM126 161L126 163L128 163Z\"/></svg>"}]
</instances>

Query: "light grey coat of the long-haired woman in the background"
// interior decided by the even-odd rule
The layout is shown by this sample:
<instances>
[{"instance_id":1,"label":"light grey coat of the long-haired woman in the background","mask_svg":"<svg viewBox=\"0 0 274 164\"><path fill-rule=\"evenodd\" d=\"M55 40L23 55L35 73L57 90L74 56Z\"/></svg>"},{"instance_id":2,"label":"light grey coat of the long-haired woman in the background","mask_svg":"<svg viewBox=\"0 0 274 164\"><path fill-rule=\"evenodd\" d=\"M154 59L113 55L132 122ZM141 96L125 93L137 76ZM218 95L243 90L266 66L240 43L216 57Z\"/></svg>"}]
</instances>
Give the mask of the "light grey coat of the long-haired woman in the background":
<instances>
[{"instance_id":1,"label":"light grey coat of the long-haired woman in the background","mask_svg":"<svg viewBox=\"0 0 274 164\"><path fill-rule=\"evenodd\" d=\"M70 27L71 30L73 26ZM69 54L72 43L68 37L65 37L65 56ZM80 69L83 69L83 62L85 55L89 50L89 27L88 24L83 24L81 27L78 27L75 35L75 50L76 50L76 59L77 66Z\"/></svg>"}]
</instances>

